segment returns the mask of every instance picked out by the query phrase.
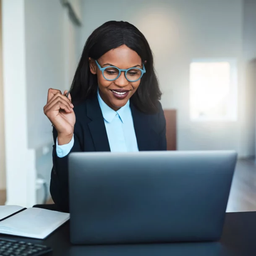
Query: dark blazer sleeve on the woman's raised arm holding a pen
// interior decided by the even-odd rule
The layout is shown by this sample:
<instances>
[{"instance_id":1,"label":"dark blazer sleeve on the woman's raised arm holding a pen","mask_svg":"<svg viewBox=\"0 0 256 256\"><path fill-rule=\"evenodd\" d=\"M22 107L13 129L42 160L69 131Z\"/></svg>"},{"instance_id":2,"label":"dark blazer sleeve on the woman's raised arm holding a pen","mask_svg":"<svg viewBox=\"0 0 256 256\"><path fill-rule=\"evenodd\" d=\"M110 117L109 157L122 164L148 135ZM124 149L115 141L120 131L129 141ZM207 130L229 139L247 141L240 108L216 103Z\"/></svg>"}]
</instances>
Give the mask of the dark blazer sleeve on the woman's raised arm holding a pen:
<instances>
[{"instance_id":1,"label":"dark blazer sleeve on the woman's raised arm holding a pen","mask_svg":"<svg viewBox=\"0 0 256 256\"><path fill-rule=\"evenodd\" d=\"M74 145L65 157L58 157L56 152L57 131L53 128L54 145L52 149L52 172L50 193L57 208L63 212L69 212L68 193L68 155L71 152L81 152L83 133L80 125L76 122L74 127Z\"/></svg>"}]
</instances>

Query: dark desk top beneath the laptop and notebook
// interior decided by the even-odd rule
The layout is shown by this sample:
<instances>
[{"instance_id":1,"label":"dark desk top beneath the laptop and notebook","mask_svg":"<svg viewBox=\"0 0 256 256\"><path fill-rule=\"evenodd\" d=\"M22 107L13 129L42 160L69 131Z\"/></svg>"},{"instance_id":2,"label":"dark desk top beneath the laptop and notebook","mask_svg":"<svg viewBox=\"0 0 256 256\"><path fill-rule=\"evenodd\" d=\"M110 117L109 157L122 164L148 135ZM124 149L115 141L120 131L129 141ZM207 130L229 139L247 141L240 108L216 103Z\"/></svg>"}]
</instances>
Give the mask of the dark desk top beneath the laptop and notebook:
<instances>
[{"instance_id":1,"label":"dark desk top beneath the laptop and notebook","mask_svg":"<svg viewBox=\"0 0 256 256\"><path fill-rule=\"evenodd\" d=\"M256 212L227 213L222 238L219 242L212 243L72 246L69 242L69 223L46 240L15 239L51 246L53 256L254 256Z\"/></svg>"}]
</instances>

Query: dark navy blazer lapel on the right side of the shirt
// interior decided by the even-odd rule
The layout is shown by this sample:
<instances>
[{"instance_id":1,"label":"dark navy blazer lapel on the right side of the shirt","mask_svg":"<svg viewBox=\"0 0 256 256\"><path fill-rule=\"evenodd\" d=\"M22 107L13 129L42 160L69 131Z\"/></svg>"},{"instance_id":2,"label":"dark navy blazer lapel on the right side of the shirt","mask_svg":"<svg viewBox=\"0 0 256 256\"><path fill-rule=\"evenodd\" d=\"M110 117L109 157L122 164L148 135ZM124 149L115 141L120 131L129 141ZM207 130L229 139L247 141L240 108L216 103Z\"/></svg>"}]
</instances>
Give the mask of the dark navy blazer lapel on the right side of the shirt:
<instances>
[{"instance_id":1,"label":"dark navy blazer lapel on the right side of the shirt","mask_svg":"<svg viewBox=\"0 0 256 256\"><path fill-rule=\"evenodd\" d=\"M138 150L150 151L154 149L154 131L152 125L149 123L149 115L138 111L133 104L131 104L131 112L133 116L133 126L136 134Z\"/></svg>"}]
</instances>

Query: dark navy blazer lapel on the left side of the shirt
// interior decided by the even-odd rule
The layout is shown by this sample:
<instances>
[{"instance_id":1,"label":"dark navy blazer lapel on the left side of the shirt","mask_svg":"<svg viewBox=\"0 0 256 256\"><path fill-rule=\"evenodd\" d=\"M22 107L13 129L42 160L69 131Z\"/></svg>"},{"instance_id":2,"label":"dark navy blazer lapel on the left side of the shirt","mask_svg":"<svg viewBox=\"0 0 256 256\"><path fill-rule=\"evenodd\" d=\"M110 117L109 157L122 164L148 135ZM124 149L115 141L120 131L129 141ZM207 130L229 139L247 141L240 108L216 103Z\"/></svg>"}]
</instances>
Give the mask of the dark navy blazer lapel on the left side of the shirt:
<instances>
[{"instance_id":1,"label":"dark navy blazer lapel on the left side of the shirt","mask_svg":"<svg viewBox=\"0 0 256 256\"><path fill-rule=\"evenodd\" d=\"M110 145L107 138L107 131L104 124L104 118L99 106L99 101L96 97L88 99L87 105L87 116L91 119L88 123L91 137L94 142L95 150L97 152L108 152L110 151Z\"/></svg>"}]
</instances>

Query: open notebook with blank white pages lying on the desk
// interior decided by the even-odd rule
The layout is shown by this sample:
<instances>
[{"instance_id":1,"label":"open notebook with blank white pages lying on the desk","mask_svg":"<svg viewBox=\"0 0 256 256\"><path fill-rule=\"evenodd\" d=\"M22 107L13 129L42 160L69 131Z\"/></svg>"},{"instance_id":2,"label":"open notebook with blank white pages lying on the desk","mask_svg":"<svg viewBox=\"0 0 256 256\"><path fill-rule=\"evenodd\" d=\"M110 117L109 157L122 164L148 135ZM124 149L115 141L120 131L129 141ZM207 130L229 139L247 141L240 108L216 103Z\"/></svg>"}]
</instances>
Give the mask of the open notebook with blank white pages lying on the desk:
<instances>
[{"instance_id":1,"label":"open notebook with blank white pages lying on the desk","mask_svg":"<svg viewBox=\"0 0 256 256\"><path fill-rule=\"evenodd\" d=\"M16 205L0 206L0 233L44 239L67 222L69 213Z\"/></svg>"}]
</instances>

